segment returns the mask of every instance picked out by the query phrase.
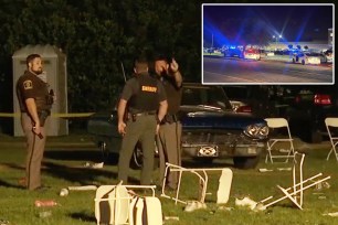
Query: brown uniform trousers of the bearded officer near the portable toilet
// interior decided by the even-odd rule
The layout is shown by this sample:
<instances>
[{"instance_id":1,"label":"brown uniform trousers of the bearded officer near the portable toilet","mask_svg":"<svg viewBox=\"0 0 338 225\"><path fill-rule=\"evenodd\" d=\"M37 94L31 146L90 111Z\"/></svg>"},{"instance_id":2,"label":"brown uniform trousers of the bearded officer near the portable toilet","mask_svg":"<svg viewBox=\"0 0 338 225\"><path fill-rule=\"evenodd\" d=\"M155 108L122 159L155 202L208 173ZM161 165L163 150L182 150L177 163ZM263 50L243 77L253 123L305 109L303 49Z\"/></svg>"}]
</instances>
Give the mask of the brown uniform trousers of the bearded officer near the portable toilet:
<instances>
[{"instance_id":1,"label":"brown uniform trousers of the bearded officer near the portable toilet","mask_svg":"<svg viewBox=\"0 0 338 225\"><path fill-rule=\"evenodd\" d=\"M27 188L29 190L34 190L41 186L41 162L45 146L45 131L41 128L40 139L33 132L32 120L28 114L21 114L21 126L27 138L27 159L25 159L25 180Z\"/></svg>"}]
</instances>

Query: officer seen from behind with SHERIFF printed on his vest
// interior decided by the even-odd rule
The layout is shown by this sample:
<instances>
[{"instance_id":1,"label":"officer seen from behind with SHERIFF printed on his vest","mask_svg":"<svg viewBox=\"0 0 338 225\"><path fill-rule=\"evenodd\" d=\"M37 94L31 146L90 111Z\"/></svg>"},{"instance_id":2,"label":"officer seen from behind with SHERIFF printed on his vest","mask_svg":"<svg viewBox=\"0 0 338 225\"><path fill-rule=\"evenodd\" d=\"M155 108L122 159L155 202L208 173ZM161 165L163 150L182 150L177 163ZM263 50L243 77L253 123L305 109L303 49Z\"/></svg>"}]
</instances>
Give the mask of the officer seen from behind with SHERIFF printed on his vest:
<instances>
[{"instance_id":1,"label":"officer seen from behind with SHERIFF printed on his vest","mask_svg":"<svg viewBox=\"0 0 338 225\"><path fill-rule=\"evenodd\" d=\"M118 160L118 180L128 180L129 161L139 141L142 148L141 185L151 183L154 169L155 136L159 124L167 113L167 97L159 81L149 76L148 62L135 62L135 77L130 78L118 103L118 132L123 135ZM128 104L127 121L125 113Z\"/></svg>"}]
</instances>

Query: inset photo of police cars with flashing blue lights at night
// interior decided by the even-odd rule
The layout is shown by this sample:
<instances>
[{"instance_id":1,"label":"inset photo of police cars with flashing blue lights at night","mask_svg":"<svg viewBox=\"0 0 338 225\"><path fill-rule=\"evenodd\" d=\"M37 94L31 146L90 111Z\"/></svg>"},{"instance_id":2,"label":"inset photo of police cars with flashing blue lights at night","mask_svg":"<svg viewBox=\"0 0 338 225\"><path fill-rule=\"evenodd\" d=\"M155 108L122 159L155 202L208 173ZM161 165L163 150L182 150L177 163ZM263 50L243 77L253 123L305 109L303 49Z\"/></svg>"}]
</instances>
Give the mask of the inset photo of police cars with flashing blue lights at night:
<instances>
[{"instance_id":1,"label":"inset photo of police cars with flashing blue lights at night","mask_svg":"<svg viewBox=\"0 0 338 225\"><path fill-rule=\"evenodd\" d=\"M202 4L202 84L335 84L332 3Z\"/></svg>"}]
</instances>

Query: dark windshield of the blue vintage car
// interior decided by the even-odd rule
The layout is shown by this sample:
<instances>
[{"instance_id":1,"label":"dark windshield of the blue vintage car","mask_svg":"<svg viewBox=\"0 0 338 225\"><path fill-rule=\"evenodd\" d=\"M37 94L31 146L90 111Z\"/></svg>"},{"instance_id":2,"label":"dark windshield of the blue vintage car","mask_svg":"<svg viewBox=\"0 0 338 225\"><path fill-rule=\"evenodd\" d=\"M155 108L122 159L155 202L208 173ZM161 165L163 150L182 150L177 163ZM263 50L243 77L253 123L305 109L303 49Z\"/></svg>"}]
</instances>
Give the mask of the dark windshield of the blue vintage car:
<instances>
[{"instance_id":1,"label":"dark windshield of the blue vintage car","mask_svg":"<svg viewBox=\"0 0 338 225\"><path fill-rule=\"evenodd\" d=\"M182 93L182 106L199 106L215 110L231 110L231 104L221 87L186 86Z\"/></svg>"}]
</instances>

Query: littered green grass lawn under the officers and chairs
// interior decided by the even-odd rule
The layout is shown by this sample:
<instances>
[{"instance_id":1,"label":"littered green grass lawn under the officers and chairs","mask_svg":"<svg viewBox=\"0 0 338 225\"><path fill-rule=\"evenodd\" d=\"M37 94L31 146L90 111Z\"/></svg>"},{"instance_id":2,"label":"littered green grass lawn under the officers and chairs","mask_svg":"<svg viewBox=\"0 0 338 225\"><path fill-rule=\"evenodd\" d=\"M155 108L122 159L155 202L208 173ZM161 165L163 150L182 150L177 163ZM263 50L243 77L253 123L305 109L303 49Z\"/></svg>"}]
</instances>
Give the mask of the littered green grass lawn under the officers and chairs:
<instances>
[{"instance_id":1,"label":"littered green grass lawn under the officers and chairs","mask_svg":"<svg viewBox=\"0 0 338 225\"><path fill-rule=\"evenodd\" d=\"M116 164L105 164L103 169L83 168L86 161L99 159L99 151L88 144L89 137L59 137L50 138L43 161L43 182L51 189L46 192L29 192L21 189L18 180L24 175L24 141L23 138L0 136L0 224L8 221L11 225L75 225L95 224L94 196L95 191L71 191L67 196L59 196L62 188L86 184L116 184ZM245 207L235 206L235 197L250 196L254 201L263 200L270 195L283 196L276 184L287 188L292 183L291 171L278 171L277 168L289 168L292 163L265 164L261 160L258 168L274 170L262 173L255 170L236 170L229 160L215 161L213 167L231 168L234 173L230 201L221 208L215 204L219 173L210 173L207 210L184 212L184 205L160 197L165 216L178 216L179 221L166 221L166 224L205 225L283 225L310 224L335 225L338 218L324 215L338 212L338 181L337 162L332 158L327 162L327 148L317 148L306 151L304 163L305 178L323 172L331 175L328 181L329 189L305 191L304 210L297 210L291 201L285 200L263 212L253 212ZM201 167L186 162L186 167ZM205 165L204 165L205 167ZM139 171L130 170L131 181L137 182ZM158 170L154 172L154 180L158 180ZM180 197L196 200L198 180L184 174ZM36 207L35 200L54 200L53 207ZM41 217L47 212L50 216ZM6 224L6 223L3 223Z\"/></svg>"}]
</instances>

